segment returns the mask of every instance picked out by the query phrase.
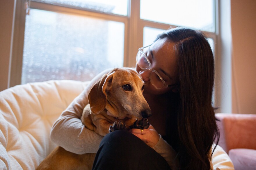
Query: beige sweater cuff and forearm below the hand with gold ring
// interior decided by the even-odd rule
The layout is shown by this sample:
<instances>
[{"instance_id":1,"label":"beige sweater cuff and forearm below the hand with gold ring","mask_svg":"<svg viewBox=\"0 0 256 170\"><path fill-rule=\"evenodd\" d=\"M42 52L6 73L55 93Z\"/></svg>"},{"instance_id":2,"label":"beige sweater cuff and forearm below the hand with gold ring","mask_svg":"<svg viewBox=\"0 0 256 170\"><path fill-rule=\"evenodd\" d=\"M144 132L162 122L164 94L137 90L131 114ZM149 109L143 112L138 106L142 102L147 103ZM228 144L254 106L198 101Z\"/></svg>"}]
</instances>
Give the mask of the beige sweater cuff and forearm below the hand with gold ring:
<instances>
[{"instance_id":1,"label":"beige sweater cuff and forearm below the hand with gold ring","mask_svg":"<svg viewBox=\"0 0 256 170\"><path fill-rule=\"evenodd\" d=\"M159 141L153 147L167 161L171 169L177 169L176 151L160 135Z\"/></svg>"}]
</instances>

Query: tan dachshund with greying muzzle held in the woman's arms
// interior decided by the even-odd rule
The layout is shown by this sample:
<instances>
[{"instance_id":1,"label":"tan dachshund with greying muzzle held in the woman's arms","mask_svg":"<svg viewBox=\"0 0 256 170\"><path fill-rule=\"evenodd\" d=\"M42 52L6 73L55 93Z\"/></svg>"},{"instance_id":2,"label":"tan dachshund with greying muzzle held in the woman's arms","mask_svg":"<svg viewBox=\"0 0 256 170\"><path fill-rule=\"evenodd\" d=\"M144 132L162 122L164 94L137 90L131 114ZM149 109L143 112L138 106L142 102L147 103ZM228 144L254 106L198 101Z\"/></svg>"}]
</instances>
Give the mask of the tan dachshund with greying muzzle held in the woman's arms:
<instances>
[{"instance_id":1,"label":"tan dachshund with greying muzzle held in the woman's arms","mask_svg":"<svg viewBox=\"0 0 256 170\"><path fill-rule=\"evenodd\" d=\"M82 123L105 136L118 129L146 129L151 109L143 97L144 81L131 68L115 68L95 83L83 109ZM62 147L54 149L38 166L41 169L92 169L96 153L78 155Z\"/></svg>"}]
</instances>

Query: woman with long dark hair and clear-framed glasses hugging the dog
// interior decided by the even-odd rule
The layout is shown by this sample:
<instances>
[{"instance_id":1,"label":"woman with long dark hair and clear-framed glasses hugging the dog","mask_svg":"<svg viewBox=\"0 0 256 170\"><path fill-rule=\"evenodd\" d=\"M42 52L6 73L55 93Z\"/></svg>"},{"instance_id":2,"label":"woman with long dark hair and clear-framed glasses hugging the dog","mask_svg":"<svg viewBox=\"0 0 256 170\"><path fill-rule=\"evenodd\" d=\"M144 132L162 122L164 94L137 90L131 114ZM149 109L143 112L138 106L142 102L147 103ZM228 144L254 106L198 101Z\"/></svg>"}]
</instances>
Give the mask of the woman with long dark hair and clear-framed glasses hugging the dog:
<instances>
[{"instance_id":1,"label":"woman with long dark hair and clear-framed glasses hugging the dog","mask_svg":"<svg viewBox=\"0 0 256 170\"><path fill-rule=\"evenodd\" d=\"M133 149L129 147L123 155L131 158L133 152L129 151L136 152L134 147L142 148L141 151L149 153L146 155L150 155L150 158L156 156L149 161L147 161L149 157L147 159L136 157L145 160L137 162L144 167L148 165L157 168L159 164L165 166L166 160L172 169L212 169L212 153L217 146L213 143L214 141L218 143L219 132L211 105L214 57L203 34L190 28L167 30L158 35L152 45L140 48L136 60L136 71L145 81L143 96L153 115L149 118L151 124L149 129L130 130L147 145L143 143L134 146L139 143L136 141L138 138L127 138ZM91 81L90 86L70 104L53 125L51 139L68 151L82 154L95 153L99 149L99 142L103 137L86 129L80 117L83 107L88 104L86 97L90 87L102 74ZM106 168L111 164L113 168L113 165L119 161L121 166L127 160L113 155L112 151L118 149L111 149L115 145L109 146L106 143L111 143L108 141L113 138L117 140L118 136L124 138L131 133L124 132L126 135L123 135L123 132L112 133L107 135L100 145L94 163L96 169L104 166ZM136 142L133 142L134 140ZM157 157L158 153L165 160ZM108 155L112 155L112 162L104 161ZM159 164L152 165L152 162Z\"/></svg>"}]
</instances>

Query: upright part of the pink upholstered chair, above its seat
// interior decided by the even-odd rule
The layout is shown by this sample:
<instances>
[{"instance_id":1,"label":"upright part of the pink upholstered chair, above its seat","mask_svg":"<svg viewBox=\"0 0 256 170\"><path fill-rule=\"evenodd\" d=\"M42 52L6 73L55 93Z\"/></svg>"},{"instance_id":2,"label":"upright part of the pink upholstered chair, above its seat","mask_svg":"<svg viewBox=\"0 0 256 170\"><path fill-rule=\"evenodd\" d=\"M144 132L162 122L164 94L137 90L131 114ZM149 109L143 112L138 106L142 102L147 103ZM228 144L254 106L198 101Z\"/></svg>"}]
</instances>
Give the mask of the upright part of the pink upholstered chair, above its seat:
<instances>
[{"instance_id":1,"label":"upright part of the pink upholstered chair, above its seat","mask_svg":"<svg viewBox=\"0 0 256 170\"><path fill-rule=\"evenodd\" d=\"M220 145L227 153L230 149L256 149L256 115L216 114L220 130Z\"/></svg>"}]
</instances>

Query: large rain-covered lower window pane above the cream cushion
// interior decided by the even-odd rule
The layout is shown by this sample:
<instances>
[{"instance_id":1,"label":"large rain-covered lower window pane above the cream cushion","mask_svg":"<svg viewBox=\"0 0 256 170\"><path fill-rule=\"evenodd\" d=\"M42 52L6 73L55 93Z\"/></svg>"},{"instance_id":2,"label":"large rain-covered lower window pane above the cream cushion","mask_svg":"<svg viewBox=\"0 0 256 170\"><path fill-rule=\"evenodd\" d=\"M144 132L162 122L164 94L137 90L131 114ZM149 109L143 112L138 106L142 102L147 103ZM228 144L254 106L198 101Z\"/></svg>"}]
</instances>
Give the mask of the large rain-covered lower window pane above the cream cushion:
<instances>
[{"instance_id":1,"label":"large rain-covered lower window pane above the cream cushion","mask_svg":"<svg viewBox=\"0 0 256 170\"><path fill-rule=\"evenodd\" d=\"M91 80L123 57L124 23L36 9L26 16L22 84Z\"/></svg>"}]
</instances>

